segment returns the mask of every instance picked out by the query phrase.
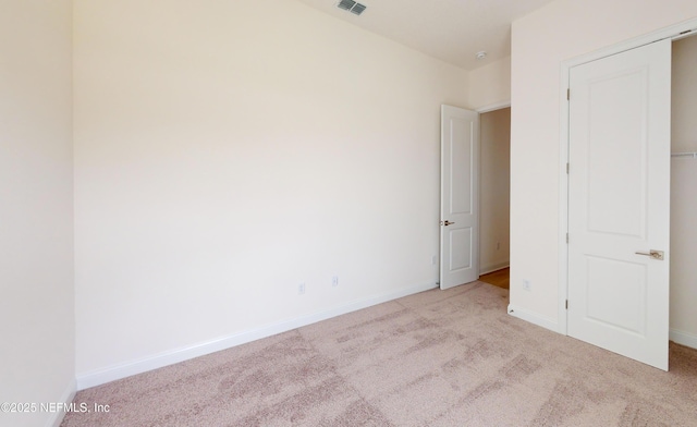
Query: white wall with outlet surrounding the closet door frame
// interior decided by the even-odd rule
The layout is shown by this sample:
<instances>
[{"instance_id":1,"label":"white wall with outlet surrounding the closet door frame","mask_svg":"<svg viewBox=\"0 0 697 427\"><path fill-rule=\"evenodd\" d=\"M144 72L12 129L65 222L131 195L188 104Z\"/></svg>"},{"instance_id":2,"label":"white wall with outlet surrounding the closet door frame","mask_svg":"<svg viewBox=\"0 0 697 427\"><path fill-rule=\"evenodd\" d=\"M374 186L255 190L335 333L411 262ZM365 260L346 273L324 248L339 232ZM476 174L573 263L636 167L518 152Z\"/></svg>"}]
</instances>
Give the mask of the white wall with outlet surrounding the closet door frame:
<instances>
[{"instance_id":1,"label":"white wall with outlet surrounding the closet door frame","mask_svg":"<svg viewBox=\"0 0 697 427\"><path fill-rule=\"evenodd\" d=\"M558 0L513 23L511 305L529 318L558 321L562 61L695 16L693 0Z\"/></svg>"}]
</instances>

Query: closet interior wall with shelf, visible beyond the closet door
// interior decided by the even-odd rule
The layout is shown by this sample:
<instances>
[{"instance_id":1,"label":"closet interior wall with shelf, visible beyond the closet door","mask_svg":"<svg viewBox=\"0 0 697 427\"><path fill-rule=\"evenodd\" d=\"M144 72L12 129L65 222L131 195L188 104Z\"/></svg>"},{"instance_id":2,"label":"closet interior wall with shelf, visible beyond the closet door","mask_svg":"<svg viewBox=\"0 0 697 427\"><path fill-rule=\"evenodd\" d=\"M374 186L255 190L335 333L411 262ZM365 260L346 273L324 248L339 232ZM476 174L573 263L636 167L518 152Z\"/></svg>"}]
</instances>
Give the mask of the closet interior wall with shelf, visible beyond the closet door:
<instances>
[{"instance_id":1,"label":"closet interior wall with shelf, visible beyond the closet door","mask_svg":"<svg viewBox=\"0 0 697 427\"><path fill-rule=\"evenodd\" d=\"M697 37L673 42L672 150L697 151ZM697 159L671 160L671 333L697 344Z\"/></svg>"}]
</instances>

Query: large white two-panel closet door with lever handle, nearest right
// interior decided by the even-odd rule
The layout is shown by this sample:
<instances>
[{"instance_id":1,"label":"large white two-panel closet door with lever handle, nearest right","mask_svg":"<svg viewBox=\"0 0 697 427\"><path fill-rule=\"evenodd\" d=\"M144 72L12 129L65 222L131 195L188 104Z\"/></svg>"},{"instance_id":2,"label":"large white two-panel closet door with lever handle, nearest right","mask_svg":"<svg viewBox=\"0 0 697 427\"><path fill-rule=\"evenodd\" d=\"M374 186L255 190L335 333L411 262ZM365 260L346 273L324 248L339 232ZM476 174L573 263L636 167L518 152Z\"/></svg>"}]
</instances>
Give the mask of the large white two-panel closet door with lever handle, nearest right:
<instances>
[{"instance_id":1,"label":"large white two-panel closet door with lever handle, nearest right","mask_svg":"<svg viewBox=\"0 0 697 427\"><path fill-rule=\"evenodd\" d=\"M570 88L567 333L668 370L671 41Z\"/></svg>"}]
</instances>

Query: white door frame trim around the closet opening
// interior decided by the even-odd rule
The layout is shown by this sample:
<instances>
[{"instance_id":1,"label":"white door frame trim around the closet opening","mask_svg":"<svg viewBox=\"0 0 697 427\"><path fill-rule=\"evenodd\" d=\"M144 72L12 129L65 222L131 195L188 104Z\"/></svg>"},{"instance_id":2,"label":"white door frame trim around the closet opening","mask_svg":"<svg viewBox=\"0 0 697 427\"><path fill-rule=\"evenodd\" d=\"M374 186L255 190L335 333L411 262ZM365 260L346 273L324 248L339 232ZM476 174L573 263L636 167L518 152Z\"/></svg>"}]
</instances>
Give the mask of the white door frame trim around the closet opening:
<instances>
[{"instance_id":1,"label":"white door frame trim around the closet opening","mask_svg":"<svg viewBox=\"0 0 697 427\"><path fill-rule=\"evenodd\" d=\"M566 319L566 300L568 298L568 246L566 233L568 232L568 174L566 164L568 162L568 120L570 109L567 100L567 89L570 83L571 69L587 62L596 61L626 50L635 49L658 40L689 37L697 34L697 19L684 21L669 27L645 34L643 36L622 41L580 57L563 61L561 64L561 80L559 90L560 105L560 145L559 145L559 301L558 301L558 325L557 331L564 335L568 334L568 324Z\"/></svg>"}]
</instances>

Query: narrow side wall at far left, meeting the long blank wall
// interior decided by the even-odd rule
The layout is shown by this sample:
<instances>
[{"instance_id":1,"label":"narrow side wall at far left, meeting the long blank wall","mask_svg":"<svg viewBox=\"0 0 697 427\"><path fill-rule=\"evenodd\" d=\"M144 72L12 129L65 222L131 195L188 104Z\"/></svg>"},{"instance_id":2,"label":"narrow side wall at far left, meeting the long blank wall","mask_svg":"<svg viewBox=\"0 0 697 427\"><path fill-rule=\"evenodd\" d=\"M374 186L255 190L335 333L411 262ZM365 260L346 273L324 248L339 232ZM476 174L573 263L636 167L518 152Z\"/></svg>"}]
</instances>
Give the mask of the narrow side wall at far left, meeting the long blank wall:
<instances>
[{"instance_id":1,"label":"narrow side wall at far left, meeting the long blank wall","mask_svg":"<svg viewBox=\"0 0 697 427\"><path fill-rule=\"evenodd\" d=\"M0 5L0 402L38 405L75 390L71 1Z\"/></svg>"}]
</instances>

